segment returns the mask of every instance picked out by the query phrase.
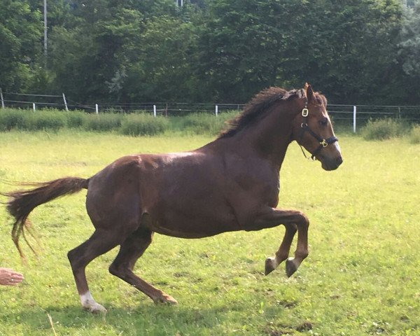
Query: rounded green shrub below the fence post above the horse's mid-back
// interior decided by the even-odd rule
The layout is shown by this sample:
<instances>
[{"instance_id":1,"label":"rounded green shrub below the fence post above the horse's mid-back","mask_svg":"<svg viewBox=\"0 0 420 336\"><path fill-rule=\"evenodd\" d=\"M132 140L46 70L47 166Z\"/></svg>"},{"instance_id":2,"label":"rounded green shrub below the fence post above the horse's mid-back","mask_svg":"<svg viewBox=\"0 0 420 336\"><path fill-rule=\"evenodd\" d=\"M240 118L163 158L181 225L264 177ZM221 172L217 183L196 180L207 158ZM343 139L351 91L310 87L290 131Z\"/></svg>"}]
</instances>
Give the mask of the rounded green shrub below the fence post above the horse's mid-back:
<instances>
[{"instance_id":1,"label":"rounded green shrub below the fence post above the horse's mid-back","mask_svg":"<svg viewBox=\"0 0 420 336\"><path fill-rule=\"evenodd\" d=\"M137 137L139 135L155 135L165 132L169 128L169 120L165 117L151 115L129 114L123 118L120 132L125 135Z\"/></svg>"}]
</instances>

